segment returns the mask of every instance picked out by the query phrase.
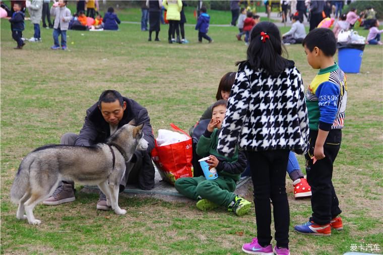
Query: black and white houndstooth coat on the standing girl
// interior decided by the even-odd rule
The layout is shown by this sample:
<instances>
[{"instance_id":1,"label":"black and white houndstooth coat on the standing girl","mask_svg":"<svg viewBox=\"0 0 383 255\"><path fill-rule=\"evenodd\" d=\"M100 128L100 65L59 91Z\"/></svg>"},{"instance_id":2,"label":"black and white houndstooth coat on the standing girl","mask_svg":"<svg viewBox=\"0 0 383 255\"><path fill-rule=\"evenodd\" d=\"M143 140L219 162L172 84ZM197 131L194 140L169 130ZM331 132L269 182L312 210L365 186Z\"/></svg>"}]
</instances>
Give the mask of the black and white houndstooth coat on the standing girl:
<instances>
[{"instance_id":1,"label":"black and white houndstooth coat on the standing girl","mask_svg":"<svg viewBox=\"0 0 383 255\"><path fill-rule=\"evenodd\" d=\"M217 150L230 157L246 151L308 150L308 118L301 75L291 61L278 77L239 65Z\"/></svg>"}]
</instances>

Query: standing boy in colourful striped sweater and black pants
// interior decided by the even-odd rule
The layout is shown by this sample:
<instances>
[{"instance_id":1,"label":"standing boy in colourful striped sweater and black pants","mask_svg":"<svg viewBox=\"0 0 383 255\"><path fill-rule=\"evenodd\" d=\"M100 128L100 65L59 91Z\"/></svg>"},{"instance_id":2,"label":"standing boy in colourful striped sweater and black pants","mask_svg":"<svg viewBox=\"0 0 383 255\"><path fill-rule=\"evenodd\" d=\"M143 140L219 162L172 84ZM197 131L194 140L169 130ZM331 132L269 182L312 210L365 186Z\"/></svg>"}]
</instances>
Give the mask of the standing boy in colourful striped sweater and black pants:
<instances>
[{"instance_id":1,"label":"standing boy in colourful striped sweater and black pants","mask_svg":"<svg viewBox=\"0 0 383 255\"><path fill-rule=\"evenodd\" d=\"M307 181L311 186L312 215L295 231L308 235L331 235L343 229L342 210L332 182L334 161L342 142L347 102L346 76L334 61L337 40L333 31L317 28L302 45L307 62L320 69L308 86L306 102L310 128L309 151L305 155Z\"/></svg>"}]
</instances>

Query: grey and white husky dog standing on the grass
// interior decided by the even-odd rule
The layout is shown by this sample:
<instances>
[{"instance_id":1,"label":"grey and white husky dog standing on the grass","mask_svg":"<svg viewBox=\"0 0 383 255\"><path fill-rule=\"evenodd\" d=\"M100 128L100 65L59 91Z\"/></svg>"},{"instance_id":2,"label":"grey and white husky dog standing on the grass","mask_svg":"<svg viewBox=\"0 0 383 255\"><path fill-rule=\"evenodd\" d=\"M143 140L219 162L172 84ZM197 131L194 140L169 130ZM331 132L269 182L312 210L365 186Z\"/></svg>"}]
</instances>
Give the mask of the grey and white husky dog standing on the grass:
<instances>
[{"instance_id":1,"label":"grey and white husky dog standing on the grass","mask_svg":"<svg viewBox=\"0 0 383 255\"><path fill-rule=\"evenodd\" d=\"M119 183L125 174L125 162L131 160L136 150L148 148L142 127L143 124L125 124L106 144L47 145L29 153L21 162L11 188L11 200L19 204L16 218L40 224L33 216L33 208L48 198L61 180L97 184L114 212L126 214L118 206Z\"/></svg>"}]
</instances>

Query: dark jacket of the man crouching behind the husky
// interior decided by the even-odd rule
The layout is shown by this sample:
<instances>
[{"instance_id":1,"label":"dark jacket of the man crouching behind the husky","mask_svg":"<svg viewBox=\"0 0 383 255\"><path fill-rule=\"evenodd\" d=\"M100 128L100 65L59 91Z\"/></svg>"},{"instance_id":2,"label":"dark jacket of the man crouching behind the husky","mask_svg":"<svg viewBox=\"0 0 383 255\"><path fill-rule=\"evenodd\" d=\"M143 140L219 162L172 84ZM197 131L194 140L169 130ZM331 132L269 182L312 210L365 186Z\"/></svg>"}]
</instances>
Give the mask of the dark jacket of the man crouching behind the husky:
<instances>
[{"instance_id":1,"label":"dark jacket of the man crouching behind the husky","mask_svg":"<svg viewBox=\"0 0 383 255\"><path fill-rule=\"evenodd\" d=\"M131 162L136 163L137 167L141 168L138 169L138 185L142 189L152 189L154 187L154 166L150 154L154 148L154 135L148 111L132 99L123 97L123 101L126 102L126 109L118 123L118 128L129 123L131 120L135 120L135 125L144 123L144 138L148 141L149 145L146 151L136 151ZM97 143L105 143L109 137L109 123L105 121L97 103L95 103L87 110L83 128L75 141L75 145L91 146Z\"/></svg>"}]
</instances>

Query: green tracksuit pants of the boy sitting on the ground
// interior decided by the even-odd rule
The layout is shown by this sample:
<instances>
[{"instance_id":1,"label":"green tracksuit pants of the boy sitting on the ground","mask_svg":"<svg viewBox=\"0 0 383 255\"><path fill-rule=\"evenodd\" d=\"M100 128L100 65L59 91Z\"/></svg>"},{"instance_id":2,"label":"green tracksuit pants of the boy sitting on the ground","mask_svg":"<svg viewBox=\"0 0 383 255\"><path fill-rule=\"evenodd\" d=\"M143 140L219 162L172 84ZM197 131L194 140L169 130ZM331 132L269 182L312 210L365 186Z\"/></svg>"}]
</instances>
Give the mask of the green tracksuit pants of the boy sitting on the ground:
<instances>
[{"instance_id":1,"label":"green tracksuit pants of the boy sitting on the ground","mask_svg":"<svg viewBox=\"0 0 383 255\"><path fill-rule=\"evenodd\" d=\"M217 205L227 207L234 200L235 181L226 176L207 180L204 176L179 178L175 189L182 195L197 200L198 196Z\"/></svg>"}]
</instances>

